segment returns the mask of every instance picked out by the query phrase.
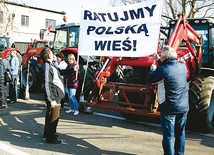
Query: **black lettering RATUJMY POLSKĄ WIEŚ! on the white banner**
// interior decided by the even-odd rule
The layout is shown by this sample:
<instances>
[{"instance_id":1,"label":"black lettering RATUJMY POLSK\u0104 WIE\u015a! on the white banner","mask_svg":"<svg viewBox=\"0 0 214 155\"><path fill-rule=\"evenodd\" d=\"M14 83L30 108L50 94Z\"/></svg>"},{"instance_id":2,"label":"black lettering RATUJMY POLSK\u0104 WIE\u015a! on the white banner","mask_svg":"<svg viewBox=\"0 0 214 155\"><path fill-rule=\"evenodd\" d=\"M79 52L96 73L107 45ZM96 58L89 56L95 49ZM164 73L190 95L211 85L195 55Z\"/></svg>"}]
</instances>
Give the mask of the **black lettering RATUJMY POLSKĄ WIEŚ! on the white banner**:
<instances>
[{"instance_id":1,"label":"black lettering RATUJMY POLSK\u0104 WIE\u015a! on the white banner","mask_svg":"<svg viewBox=\"0 0 214 155\"><path fill-rule=\"evenodd\" d=\"M87 35L123 35L123 34L143 34L145 37L149 36L149 30L146 23L126 25L123 26L125 21L143 19L153 17L156 4L138 8L136 10L131 9L123 11L121 14L118 12L92 12L90 10L84 10L84 20L99 21L99 22L118 22L121 26L113 27L112 25L105 26L99 24L99 26L90 25L87 27ZM146 17L147 16L147 17ZM148 18L149 19L149 18ZM122 23L123 22L123 23ZM102 26L101 26L102 25ZM129 37L125 40L95 40L95 51L136 51L137 40L131 40Z\"/></svg>"}]
</instances>

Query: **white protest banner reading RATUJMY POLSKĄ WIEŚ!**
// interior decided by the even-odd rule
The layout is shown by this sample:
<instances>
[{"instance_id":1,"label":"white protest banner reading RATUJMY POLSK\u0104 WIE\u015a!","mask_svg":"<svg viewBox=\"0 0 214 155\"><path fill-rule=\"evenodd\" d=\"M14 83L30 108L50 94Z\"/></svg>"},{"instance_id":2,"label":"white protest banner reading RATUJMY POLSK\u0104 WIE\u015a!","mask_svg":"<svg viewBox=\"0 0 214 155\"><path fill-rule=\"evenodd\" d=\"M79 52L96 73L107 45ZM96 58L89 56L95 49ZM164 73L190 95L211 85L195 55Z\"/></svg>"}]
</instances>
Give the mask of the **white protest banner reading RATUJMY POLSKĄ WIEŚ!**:
<instances>
[{"instance_id":1,"label":"white protest banner reading RATUJMY POLSK\u0104 WIE\u015a!","mask_svg":"<svg viewBox=\"0 0 214 155\"><path fill-rule=\"evenodd\" d=\"M157 52L162 0L82 8L79 55L140 57Z\"/></svg>"}]
</instances>

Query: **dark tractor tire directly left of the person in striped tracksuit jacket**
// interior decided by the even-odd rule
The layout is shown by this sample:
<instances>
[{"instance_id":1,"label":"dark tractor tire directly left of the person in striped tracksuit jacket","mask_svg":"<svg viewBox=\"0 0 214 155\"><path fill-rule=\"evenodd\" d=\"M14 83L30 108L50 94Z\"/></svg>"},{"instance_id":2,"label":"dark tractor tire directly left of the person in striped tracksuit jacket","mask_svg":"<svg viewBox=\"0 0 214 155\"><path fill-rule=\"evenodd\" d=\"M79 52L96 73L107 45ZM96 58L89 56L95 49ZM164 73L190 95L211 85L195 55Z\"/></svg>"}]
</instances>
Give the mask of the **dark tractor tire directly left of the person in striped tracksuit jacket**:
<instances>
[{"instance_id":1,"label":"dark tractor tire directly left of the person in striped tracksuit jacket","mask_svg":"<svg viewBox=\"0 0 214 155\"><path fill-rule=\"evenodd\" d=\"M28 73L28 66L24 65L22 67L22 73L21 73L22 74L21 83L24 87L23 90L26 89L27 73ZM32 93L40 91L42 86L42 75L38 76L38 73L36 72L35 68L31 65L29 68L28 86L29 86L29 92L32 92Z\"/></svg>"}]
</instances>

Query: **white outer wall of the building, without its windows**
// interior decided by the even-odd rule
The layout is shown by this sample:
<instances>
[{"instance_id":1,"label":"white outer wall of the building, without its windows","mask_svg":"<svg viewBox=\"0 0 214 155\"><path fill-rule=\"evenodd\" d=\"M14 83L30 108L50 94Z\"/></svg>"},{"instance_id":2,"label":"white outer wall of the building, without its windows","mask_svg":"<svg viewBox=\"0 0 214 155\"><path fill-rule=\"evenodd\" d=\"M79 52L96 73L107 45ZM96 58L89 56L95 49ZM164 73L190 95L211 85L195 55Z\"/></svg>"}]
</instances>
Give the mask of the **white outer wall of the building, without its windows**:
<instances>
[{"instance_id":1,"label":"white outer wall of the building, without its windows","mask_svg":"<svg viewBox=\"0 0 214 155\"><path fill-rule=\"evenodd\" d=\"M6 2L5 2L6 3ZM39 39L40 29L46 29L46 19L55 20L55 24L62 24L65 12L57 12L42 8L23 6L21 4L7 2L6 8L2 8L4 14L4 22L1 27L7 30L11 43L30 43L34 39ZM15 15L15 16L14 16ZM21 16L29 17L29 26L21 26ZM10 22L8 22L10 19ZM6 28L7 27L7 28ZM53 40L53 34L45 34L45 39Z\"/></svg>"}]
</instances>

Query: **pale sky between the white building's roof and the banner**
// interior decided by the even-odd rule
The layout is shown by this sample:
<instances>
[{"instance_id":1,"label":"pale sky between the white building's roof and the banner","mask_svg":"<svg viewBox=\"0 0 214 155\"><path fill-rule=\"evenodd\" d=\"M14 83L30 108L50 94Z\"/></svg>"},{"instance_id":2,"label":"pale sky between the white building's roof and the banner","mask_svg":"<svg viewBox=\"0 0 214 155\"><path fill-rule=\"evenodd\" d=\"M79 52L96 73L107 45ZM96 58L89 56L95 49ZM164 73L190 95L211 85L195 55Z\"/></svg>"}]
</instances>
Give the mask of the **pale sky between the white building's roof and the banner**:
<instances>
[{"instance_id":1,"label":"pale sky between the white building's roof and the banner","mask_svg":"<svg viewBox=\"0 0 214 155\"><path fill-rule=\"evenodd\" d=\"M110 0L10 0L38 8L65 11L67 22L80 22L81 6L110 7Z\"/></svg>"}]
</instances>

